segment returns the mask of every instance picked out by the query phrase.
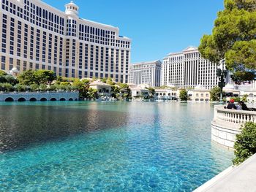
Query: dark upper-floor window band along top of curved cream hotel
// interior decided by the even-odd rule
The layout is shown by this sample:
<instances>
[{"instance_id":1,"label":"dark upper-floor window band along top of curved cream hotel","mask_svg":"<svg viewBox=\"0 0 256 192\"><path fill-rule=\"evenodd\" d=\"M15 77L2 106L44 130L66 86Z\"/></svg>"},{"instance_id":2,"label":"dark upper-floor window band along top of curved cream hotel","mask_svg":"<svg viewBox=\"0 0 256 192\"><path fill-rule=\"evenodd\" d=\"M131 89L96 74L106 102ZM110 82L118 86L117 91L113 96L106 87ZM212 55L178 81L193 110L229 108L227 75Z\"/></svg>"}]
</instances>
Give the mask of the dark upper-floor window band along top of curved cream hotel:
<instances>
[{"instance_id":1,"label":"dark upper-floor window band along top of curved cream hotel","mask_svg":"<svg viewBox=\"0 0 256 192\"><path fill-rule=\"evenodd\" d=\"M3 0L2 8L36 26L64 35L64 18L27 0L24 0L24 4L24 7L21 8L8 0ZM67 36L76 37L76 24L76 20L67 20ZM79 25L79 39L102 45L130 48L130 42L116 39L116 32L82 24Z\"/></svg>"}]
</instances>

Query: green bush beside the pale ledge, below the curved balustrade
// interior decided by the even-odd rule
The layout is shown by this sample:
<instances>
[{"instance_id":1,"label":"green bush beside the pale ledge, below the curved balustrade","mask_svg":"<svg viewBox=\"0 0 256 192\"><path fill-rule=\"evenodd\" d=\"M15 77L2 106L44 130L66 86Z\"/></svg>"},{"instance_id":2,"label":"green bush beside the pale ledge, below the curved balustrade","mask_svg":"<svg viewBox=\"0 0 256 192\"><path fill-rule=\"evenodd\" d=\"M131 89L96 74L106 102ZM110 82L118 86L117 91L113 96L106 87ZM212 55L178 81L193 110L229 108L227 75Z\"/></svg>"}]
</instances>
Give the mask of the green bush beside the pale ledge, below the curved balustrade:
<instances>
[{"instance_id":1,"label":"green bush beside the pale ledge, below the curved balustrade","mask_svg":"<svg viewBox=\"0 0 256 192\"><path fill-rule=\"evenodd\" d=\"M256 153L256 123L245 123L241 129L241 134L236 135L234 145L236 157L233 164L241 164L247 158Z\"/></svg>"}]
</instances>

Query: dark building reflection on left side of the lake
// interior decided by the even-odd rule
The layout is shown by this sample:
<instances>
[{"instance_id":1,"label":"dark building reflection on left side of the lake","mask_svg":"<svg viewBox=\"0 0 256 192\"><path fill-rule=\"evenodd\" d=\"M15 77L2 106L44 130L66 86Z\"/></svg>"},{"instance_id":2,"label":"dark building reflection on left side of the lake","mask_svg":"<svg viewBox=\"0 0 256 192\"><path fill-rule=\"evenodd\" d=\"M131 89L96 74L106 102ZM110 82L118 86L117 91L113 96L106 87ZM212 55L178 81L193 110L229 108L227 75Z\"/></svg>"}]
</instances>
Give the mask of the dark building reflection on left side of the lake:
<instances>
[{"instance_id":1,"label":"dark building reflection on left side of the lake","mask_svg":"<svg viewBox=\"0 0 256 192\"><path fill-rule=\"evenodd\" d=\"M97 110L97 104L62 104L0 105L0 151L126 124L125 112L107 113Z\"/></svg>"}]
</instances>

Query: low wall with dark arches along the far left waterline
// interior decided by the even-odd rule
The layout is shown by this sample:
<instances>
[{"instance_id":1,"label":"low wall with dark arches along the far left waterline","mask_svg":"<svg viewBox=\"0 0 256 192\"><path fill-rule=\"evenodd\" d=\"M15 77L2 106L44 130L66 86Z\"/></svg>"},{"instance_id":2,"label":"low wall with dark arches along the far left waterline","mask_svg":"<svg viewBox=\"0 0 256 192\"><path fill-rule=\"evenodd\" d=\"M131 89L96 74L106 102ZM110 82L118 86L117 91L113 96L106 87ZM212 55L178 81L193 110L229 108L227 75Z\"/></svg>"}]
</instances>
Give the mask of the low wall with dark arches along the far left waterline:
<instances>
[{"instance_id":1,"label":"low wall with dark arches along the far left waterline","mask_svg":"<svg viewBox=\"0 0 256 192\"><path fill-rule=\"evenodd\" d=\"M0 93L0 101L78 101L79 92Z\"/></svg>"}]
</instances>

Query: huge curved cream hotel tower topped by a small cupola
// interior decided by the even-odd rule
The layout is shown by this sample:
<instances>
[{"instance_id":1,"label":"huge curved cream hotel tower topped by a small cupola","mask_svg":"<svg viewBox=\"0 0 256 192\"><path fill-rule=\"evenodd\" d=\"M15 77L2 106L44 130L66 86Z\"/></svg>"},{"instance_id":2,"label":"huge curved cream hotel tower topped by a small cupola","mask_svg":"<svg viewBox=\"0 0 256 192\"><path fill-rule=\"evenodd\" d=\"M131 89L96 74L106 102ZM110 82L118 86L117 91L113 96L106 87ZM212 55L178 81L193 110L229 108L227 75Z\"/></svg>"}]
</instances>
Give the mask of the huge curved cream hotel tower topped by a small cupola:
<instances>
[{"instance_id":1,"label":"huge curved cream hotel tower topped by a small cupola","mask_svg":"<svg viewBox=\"0 0 256 192\"><path fill-rule=\"evenodd\" d=\"M64 77L111 77L128 82L131 40L116 27L78 16L40 0L1 0L1 70L53 70Z\"/></svg>"}]
</instances>

